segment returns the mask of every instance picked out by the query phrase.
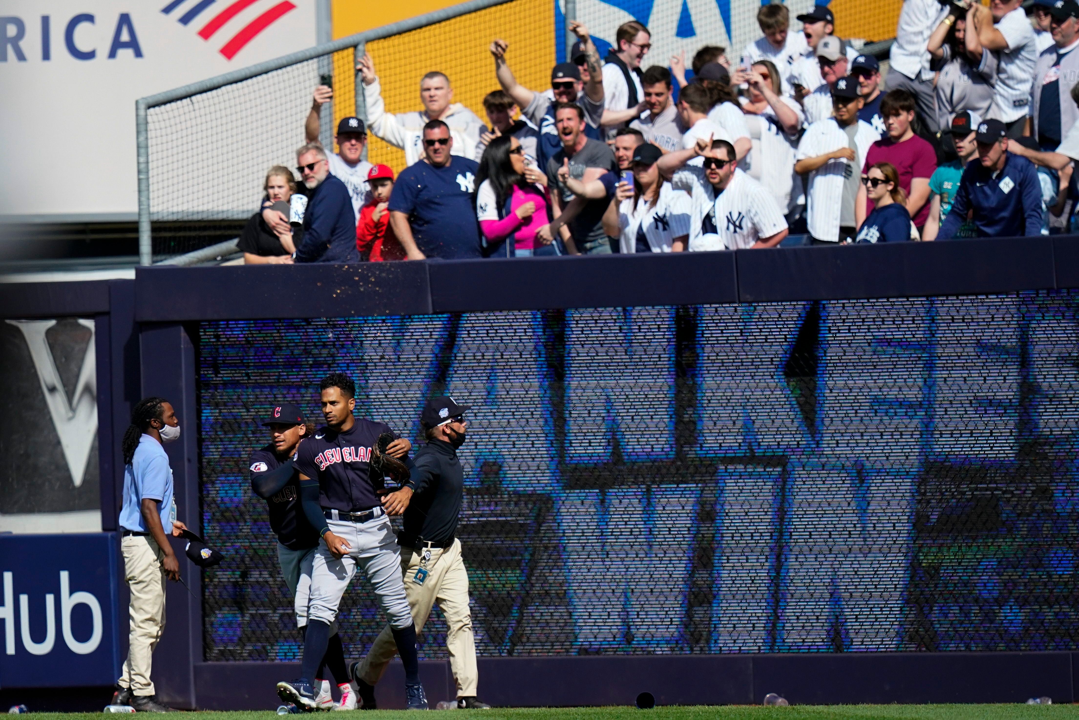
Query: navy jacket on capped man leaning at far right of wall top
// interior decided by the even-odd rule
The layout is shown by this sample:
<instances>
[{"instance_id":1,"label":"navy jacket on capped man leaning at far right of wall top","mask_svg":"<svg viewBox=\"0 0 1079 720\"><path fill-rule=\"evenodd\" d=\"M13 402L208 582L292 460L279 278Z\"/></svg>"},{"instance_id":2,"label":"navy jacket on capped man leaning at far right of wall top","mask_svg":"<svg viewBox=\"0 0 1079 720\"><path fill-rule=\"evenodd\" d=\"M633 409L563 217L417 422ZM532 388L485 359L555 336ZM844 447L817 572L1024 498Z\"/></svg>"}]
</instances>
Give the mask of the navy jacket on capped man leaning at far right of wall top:
<instances>
[{"instance_id":1,"label":"navy jacket on capped man leaning at far right of wall top","mask_svg":"<svg viewBox=\"0 0 1079 720\"><path fill-rule=\"evenodd\" d=\"M952 209L937 240L953 237L970 208L974 208L974 229L979 237L1040 235L1041 184L1034 163L1009 152L996 178L976 158L967 163L959 191L955 193Z\"/></svg>"}]
</instances>

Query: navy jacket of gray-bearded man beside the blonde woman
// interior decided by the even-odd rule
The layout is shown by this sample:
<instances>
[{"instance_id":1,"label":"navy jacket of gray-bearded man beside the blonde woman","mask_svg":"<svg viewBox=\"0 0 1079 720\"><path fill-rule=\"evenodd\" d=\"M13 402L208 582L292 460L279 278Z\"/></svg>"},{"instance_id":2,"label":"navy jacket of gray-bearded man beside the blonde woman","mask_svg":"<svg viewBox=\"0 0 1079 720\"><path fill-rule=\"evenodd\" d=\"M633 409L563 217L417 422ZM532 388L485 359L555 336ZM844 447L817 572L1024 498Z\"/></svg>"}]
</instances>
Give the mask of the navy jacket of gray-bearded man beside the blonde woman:
<instances>
[{"instance_id":1,"label":"navy jacket of gray-bearded man beside the blonde woman","mask_svg":"<svg viewBox=\"0 0 1079 720\"><path fill-rule=\"evenodd\" d=\"M297 262L359 262L356 210L344 182L327 175L311 192L303 214L303 242Z\"/></svg>"}]
</instances>

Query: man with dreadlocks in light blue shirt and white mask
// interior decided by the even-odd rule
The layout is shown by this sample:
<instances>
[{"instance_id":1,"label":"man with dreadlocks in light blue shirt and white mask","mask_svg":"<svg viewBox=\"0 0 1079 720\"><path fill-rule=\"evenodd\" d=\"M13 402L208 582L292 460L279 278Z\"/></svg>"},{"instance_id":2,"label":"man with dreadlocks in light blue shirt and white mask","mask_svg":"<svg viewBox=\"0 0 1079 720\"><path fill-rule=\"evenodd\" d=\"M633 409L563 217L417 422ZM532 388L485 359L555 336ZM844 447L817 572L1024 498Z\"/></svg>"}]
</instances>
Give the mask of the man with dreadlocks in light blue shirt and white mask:
<instances>
[{"instance_id":1,"label":"man with dreadlocks in light blue shirt and white mask","mask_svg":"<svg viewBox=\"0 0 1079 720\"><path fill-rule=\"evenodd\" d=\"M112 704L144 712L174 711L154 695L150 663L165 629L165 579L180 579L180 565L167 535L178 538L187 529L176 519L173 471L162 447L179 436L180 422L172 404L163 397L147 397L132 411L122 445L124 504L119 524L124 578L131 588L131 630Z\"/></svg>"}]
</instances>

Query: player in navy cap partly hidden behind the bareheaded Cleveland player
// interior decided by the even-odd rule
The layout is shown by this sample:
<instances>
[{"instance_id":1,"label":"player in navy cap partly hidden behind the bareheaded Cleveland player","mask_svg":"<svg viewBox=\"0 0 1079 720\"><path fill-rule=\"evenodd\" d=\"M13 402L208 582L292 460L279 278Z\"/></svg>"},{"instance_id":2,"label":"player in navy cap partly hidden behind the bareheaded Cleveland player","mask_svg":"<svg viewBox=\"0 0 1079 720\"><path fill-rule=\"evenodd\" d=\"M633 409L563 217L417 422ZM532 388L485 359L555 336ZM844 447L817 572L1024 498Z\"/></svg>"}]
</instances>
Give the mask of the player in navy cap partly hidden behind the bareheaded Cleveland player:
<instances>
[{"instance_id":1,"label":"player in navy cap partly hidden behind the bareheaded Cleveland player","mask_svg":"<svg viewBox=\"0 0 1079 720\"><path fill-rule=\"evenodd\" d=\"M300 440L310 434L310 427L300 408L288 403L275 406L262 425L270 429L270 443L251 453L248 463L251 490L269 506L270 528L277 535L281 572L296 601L296 624L301 633L305 633L311 567L318 547L318 533L303 515L300 474L293 461ZM341 702L337 705L330 695L329 681L323 679L323 670L327 667L341 690ZM319 709L356 709L356 693L349 682L344 648L337 631L330 636L326 656L315 673L315 704Z\"/></svg>"}]
</instances>

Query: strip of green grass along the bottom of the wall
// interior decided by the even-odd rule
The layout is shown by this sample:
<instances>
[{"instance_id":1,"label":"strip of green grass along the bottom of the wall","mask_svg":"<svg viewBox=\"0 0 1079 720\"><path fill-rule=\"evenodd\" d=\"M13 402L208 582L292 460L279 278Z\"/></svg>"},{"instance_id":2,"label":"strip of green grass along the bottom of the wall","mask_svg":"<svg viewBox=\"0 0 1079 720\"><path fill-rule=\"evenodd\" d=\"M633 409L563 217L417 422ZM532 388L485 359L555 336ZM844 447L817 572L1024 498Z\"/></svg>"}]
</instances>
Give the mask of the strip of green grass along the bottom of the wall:
<instances>
[{"instance_id":1,"label":"strip of green grass along the bottom of the wall","mask_svg":"<svg viewBox=\"0 0 1079 720\"><path fill-rule=\"evenodd\" d=\"M437 712L437 711L436 711ZM450 711L446 711L450 712ZM111 716L110 716L111 717ZM120 716L127 717L127 716ZM188 712L186 720L276 720L273 711ZM404 710L359 711L342 716L322 716L327 720L415 720L415 712ZM437 715L431 720L441 718ZM35 720L101 720L100 714L35 712ZM1026 720L1027 718L1077 718L1079 705L803 705L794 707L659 707L638 710L633 707L596 708L518 708L494 710L452 710L447 718L466 720ZM314 720L314 718L312 718Z\"/></svg>"}]
</instances>

